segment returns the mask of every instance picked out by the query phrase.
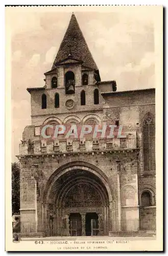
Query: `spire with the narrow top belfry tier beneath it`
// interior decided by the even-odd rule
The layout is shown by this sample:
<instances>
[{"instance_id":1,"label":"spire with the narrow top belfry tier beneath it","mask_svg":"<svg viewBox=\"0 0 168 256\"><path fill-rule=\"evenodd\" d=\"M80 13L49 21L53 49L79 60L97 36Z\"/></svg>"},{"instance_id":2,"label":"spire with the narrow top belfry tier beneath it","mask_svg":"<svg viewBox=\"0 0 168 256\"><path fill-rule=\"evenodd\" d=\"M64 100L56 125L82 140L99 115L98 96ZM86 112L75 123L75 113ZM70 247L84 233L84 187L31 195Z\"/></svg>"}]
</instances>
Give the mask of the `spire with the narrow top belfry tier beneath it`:
<instances>
[{"instance_id":1,"label":"spire with the narrow top belfry tier beneath it","mask_svg":"<svg viewBox=\"0 0 168 256\"><path fill-rule=\"evenodd\" d=\"M73 13L52 69L45 74L46 88L65 88L65 94L75 94L76 86L101 81L99 70L88 49L85 38ZM54 83L55 84L55 83Z\"/></svg>"}]
</instances>

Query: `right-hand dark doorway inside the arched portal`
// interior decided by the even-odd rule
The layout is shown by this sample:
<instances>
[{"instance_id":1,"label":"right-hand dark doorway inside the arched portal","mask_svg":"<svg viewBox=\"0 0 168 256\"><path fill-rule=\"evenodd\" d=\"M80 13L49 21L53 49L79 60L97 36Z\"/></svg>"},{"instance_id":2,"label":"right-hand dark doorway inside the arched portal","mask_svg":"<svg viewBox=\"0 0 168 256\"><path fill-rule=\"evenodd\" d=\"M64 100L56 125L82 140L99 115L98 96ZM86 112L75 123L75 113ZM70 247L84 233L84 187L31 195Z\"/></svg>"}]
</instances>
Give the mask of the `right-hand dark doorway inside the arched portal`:
<instances>
[{"instance_id":1,"label":"right-hand dark doorway inside the arched portal","mask_svg":"<svg viewBox=\"0 0 168 256\"><path fill-rule=\"evenodd\" d=\"M98 236L99 234L99 220L96 212L86 213L85 231L86 236Z\"/></svg>"}]
</instances>

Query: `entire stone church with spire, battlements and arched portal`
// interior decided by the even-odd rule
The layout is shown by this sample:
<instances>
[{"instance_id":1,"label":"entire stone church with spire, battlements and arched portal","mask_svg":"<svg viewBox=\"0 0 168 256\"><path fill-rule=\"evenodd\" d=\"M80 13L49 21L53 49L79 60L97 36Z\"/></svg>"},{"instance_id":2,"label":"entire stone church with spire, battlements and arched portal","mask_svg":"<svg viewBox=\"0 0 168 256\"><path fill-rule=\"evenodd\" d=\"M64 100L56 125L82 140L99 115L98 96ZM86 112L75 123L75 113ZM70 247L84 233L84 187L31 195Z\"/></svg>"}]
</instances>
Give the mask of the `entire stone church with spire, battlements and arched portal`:
<instances>
[{"instance_id":1,"label":"entire stone church with spire, battlements and arched portal","mask_svg":"<svg viewBox=\"0 0 168 256\"><path fill-rule=\"evenodd\" d=\"M124 236L156 229L155 89L101 81L73 13L45 86L28 88L19 145L23 236ZM123 125L125 138L46 140L41 126ZM50 134L50 131L47 130Z\"/></svg>"}]
</instances>

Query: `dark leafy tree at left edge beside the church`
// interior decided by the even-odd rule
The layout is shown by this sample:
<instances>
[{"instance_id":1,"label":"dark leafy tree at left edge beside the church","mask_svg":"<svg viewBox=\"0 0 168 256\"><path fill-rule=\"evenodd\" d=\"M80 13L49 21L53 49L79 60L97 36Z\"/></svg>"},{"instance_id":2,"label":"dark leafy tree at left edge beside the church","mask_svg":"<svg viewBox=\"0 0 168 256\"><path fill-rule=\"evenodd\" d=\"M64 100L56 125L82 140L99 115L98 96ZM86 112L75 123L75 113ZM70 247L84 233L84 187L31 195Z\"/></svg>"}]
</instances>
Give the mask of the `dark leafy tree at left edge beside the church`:
<instances>
[{"instance_id":1,"label":"dark leafy tree at left edge beside the church","mask_svg":"<svg viewBox=\"0 0 168 256\"><path fill-rule=\"evenodd\" d=\"M20 168L19 164L12 163L12 215L20 209Z\"/></svg>"}]
</instances>

